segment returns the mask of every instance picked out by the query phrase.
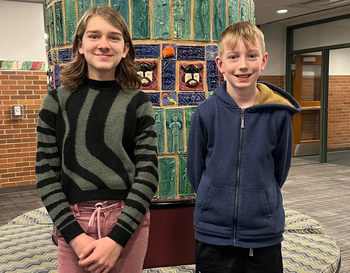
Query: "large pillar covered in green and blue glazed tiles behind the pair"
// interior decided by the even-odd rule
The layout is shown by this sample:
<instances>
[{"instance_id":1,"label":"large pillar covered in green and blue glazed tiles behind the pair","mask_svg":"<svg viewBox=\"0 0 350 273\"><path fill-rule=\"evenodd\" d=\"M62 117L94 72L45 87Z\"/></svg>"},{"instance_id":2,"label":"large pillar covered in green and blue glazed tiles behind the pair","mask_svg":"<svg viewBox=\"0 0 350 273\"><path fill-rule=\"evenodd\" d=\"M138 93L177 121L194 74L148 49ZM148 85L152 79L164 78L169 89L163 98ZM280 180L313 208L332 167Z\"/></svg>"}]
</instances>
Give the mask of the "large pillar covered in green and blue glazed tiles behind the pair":
<instances>
[{"instance_id":1,"label":"large pillar covered in green and blue glazed tiles behind the pair","mask_svg":"<svg viewBox=\"0 0 350 273\"><path fill-rule=\"evenodd\" d=\"M195 196L187 178L187 138L196 106L223 77L215 64L217 41L236 21L255 23L254 0L46 0L51 88L72 56L78 20L92 6L118 10L129 25L142 77L154 106L159 188L154 198Z\"/></svg>"}]
</instances>

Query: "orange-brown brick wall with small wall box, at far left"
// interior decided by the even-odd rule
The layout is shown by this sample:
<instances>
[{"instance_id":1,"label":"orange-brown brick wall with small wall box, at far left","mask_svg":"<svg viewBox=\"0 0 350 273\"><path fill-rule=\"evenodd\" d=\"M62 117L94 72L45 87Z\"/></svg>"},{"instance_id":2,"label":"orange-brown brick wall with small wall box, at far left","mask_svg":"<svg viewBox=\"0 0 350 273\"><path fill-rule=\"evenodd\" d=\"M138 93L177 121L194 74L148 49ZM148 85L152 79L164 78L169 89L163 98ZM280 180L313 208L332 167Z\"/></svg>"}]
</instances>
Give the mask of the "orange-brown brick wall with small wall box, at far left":
<instances>
[{"instance_id":1,"label":"orange-brown brick wall with small wall box, at far left","mask_svg":"<svg viewBox=\"0 0 350 273\"><path fill-rule=\"evenodd\" d=\"M35 184L36 123L46 93L44 71L0 71L0 188ZM23 105L23 119L11 119L11 105Z\"/></svg>"}]
</instances>

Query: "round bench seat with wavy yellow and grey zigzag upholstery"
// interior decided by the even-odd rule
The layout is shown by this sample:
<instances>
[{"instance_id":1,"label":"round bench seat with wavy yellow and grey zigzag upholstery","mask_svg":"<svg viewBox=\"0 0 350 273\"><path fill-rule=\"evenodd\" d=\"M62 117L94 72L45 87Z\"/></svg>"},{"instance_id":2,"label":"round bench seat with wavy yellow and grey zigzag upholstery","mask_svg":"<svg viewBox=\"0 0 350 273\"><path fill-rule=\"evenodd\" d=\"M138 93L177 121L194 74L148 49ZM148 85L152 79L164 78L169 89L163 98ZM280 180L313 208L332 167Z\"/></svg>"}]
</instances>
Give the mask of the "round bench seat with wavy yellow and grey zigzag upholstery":
<instances>
[{"instance_id":1,"label":"round bench seat with wavy yellow and grey zigzag upholstery","mask_svg":"<svg viewBox=\"0 0 350 273\"><path fill-rule=\"evenodd\" d=\"M0 227L0 273L57 272L52 221L45 208L16 217ZM286 209L282 243L284 273L335 273L340 249L321 224ZM142 273L194 273L194 265L144 269Z\"/></svg>"}]
</instances>

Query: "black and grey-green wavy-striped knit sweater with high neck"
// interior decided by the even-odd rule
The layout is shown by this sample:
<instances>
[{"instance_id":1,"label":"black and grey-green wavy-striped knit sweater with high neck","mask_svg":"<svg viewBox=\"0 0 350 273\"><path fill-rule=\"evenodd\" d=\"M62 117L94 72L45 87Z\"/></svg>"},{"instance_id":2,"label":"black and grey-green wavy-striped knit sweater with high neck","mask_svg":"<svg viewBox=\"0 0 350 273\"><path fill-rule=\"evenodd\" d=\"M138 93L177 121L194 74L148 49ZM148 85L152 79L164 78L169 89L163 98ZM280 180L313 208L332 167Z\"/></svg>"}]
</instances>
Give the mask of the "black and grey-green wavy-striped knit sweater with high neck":
<instances>
[{"instance_id":1,"label":"black and grey-green wavy-striped knit sweater with high neck","mask_svg":"<svg viewBox=\"0 0 350 273\"><path fill-rule=\"evenodd\" d=\"M37 126L38 193L55 226L70 242L84 233L69 205L124 200L108 237L123 247L157 190L153 106L139 90L116 81L86 80L75 92L49 91Z\"/></svg>"}]
</instances>

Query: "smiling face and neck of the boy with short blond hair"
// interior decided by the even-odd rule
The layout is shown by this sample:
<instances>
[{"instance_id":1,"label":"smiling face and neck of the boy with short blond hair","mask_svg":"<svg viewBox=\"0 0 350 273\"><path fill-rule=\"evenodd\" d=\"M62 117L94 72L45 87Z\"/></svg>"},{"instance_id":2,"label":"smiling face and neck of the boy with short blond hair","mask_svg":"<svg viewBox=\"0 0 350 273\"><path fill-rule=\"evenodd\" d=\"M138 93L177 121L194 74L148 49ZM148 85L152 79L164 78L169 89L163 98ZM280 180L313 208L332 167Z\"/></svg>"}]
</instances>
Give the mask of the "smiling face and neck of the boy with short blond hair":
<instances>
[{"instance_id":1,"label":"smiling face and neck of the boy with short blond hair","mask_svg":"<svg viewBox=\"0 0 350 273\"><path fill-rule=\"evenodd\" d=\"M246 47L240 39L234 49L225 46L222 56L216 58L219 71L225 75L230 94L239 91L255 92L260 72L266 67L268 55L262 52L259 41L248 45Z\"/></svg>"}]
</instances>

